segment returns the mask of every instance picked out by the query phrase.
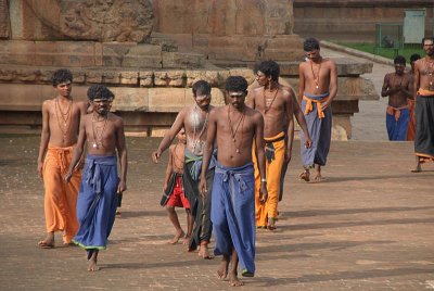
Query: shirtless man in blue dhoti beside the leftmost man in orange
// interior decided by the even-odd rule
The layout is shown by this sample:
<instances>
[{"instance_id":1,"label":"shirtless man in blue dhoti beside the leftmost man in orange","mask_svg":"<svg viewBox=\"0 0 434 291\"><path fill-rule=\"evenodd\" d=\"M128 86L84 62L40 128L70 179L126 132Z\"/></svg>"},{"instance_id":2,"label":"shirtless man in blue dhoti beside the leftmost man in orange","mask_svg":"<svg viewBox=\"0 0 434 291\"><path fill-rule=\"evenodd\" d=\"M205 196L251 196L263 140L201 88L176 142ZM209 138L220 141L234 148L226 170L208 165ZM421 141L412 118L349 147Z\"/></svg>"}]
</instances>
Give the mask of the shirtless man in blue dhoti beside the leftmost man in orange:
<instances>
[{"instance_id":1,"label":"shirtless man in blue dhoti beside the leftmost man in orange","mask_svg":"<svg viewBox=\"0 0 434 291\"><path fill-rule=\"evenodd\" d=\"M73 242L88 253L88 270L98 270L98 253L105 250L115 222L118 194L127 189L127 148L124 122L110 112L114 94L105 86L92 85L88 99L93 112L84 116L77 147L74 150L65 180L79 162L85 144L88 155L77 200L77 218L80 225ZM116 151L120 161L117 176Z\"/></svg>"}]
</instances>

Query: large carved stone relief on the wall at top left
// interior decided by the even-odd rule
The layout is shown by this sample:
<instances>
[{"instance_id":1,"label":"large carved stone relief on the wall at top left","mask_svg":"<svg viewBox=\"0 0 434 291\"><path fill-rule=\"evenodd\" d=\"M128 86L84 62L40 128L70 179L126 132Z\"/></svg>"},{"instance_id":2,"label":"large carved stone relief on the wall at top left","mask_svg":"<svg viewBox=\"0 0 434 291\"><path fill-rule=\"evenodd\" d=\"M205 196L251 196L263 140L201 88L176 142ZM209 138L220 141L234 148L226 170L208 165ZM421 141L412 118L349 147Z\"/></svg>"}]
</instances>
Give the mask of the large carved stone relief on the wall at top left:
<instances>
[{"instance_id":1,"label":"large carved stone relief on the wall at top left","mask_svg":"<svg viewBox=\"0 0 434 291\"><path fill-rule=\"evenodd\" d=\"M17 1L25 1L23 5L28 10L23 10L23 15L31 12L37 24L30 28L26 17L22 17L29 31L21 39L50 40L53 34L61 34L76 40L144 42L152 31L153 11L149 0ZM52 31L43 31L47 29Z\"/></svg>"}]
</instances>

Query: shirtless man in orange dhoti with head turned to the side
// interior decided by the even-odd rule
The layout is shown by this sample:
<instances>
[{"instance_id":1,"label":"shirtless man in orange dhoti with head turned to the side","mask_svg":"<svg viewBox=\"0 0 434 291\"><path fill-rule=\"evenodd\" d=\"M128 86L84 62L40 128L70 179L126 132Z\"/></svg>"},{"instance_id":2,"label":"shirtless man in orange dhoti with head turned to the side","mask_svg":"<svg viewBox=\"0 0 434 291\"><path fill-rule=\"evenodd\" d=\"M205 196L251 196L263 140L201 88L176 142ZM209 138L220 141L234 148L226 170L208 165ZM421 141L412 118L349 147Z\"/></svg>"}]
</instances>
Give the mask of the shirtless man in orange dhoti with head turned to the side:
<instances>
[{"instance_id":1,"label":"shirtless man in orange dhoti with head turned to the side","mask_svg":"<svg viewBox=\"0 0 434 291\"><path fill-rule=\"evenodd\" d=\"M278 201L282 167L290 161L294 137L293 115L306 135L305 147L310 148L311 141L306 121L293 91L279 84L280 67L273 61L264 61L257 67L256 80L259 88L253 90L247 105L259 111L265 121L264 141L267 170L268 200L259 201L260 175L255 162L255 205L256 227L276 229L278 219ZM288 142L285 144L285 137ZM255 161L255 159L254 159Z\"/></svg>"}]
</instances>

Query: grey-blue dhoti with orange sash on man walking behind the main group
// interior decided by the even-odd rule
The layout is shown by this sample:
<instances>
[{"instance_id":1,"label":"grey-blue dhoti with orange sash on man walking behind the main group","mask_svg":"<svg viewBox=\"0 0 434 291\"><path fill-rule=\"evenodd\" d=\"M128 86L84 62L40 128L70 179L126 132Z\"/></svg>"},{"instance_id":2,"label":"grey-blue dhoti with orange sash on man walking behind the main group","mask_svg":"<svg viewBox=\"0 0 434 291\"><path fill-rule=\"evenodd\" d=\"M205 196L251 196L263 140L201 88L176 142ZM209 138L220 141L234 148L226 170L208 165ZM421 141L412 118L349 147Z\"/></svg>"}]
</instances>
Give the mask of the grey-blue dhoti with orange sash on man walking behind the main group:
<instances>
[{"instance_id":1,"label":"grey-blue dhoti with orange sash on man walking behind the main group","mask_svg":"<svg viewBox=\"0 0 434 291\"><path fill-rule=\"evenodd\" d=\"M324 111L318 109L328 96L329 93L320 96L304 93L302 110L312 141L310 149L303 147L305 135L301 131L302 162L306 168L312 167L314 164L324 166L327 163L332 136L332 109L331 105Z\"/></svg>"}]
</instances>

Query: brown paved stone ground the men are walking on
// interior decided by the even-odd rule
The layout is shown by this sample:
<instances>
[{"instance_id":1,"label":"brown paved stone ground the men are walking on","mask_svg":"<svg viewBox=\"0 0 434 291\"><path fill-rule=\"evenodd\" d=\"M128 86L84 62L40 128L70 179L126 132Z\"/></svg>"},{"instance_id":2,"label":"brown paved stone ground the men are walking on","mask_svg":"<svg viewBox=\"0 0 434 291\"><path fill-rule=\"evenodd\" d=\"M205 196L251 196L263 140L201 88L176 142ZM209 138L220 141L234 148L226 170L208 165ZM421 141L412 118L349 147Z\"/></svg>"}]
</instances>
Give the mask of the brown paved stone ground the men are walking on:
<instances>
[{"instance_id":1,"label":"brown paved stone ground the men are walking on","mask_svg":"<svg viewBox=\"0 0 434 291\"><path fill-rule=\"evenodd\" d=\"M173 227L159 206L167 154L159 139L128 138L129 190L101 271L79 248L37 248L44 235L39 137L0 136L1 290L226 290L219 258L200 260L166 243ZM434 288L434 165L410 174L410 142L332 142L328 178L298 181L299 143L275 232L258 231L256 277L242 290L427 290ZM182 211L178 212L184 225ZM61 242L60 236L56 237Z\"/></svg>"}]
</instances>

